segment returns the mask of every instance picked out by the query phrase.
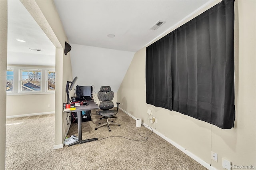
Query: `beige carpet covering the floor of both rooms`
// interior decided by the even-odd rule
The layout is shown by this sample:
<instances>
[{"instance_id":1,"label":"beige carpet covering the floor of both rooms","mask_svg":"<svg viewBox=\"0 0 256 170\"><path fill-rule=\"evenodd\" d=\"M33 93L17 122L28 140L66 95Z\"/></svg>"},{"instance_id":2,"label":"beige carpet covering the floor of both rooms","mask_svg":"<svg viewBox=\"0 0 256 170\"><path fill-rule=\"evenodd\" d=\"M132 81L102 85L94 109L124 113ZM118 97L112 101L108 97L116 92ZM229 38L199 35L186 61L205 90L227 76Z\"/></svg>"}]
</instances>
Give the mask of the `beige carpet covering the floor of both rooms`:
<instances>
[{"instance_id":1,"label":"beige carpet covering the floor of both rooms","mask_svg":"<svg viewBox=\"0 0 256 170\"><path fill-rule=\"evenodd\" d=\"M136 127L122 111L117 116L120 127L95 130L100 116L92 111L93 120L82 123L82 139L98 140L58 150L53 150L54 114L7 119L6 170L206 170L148 128ZM77 124L70 126L72 134Z\"/></svg>"}]
</instances>

